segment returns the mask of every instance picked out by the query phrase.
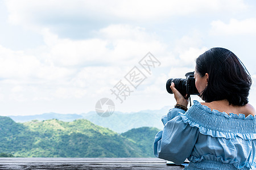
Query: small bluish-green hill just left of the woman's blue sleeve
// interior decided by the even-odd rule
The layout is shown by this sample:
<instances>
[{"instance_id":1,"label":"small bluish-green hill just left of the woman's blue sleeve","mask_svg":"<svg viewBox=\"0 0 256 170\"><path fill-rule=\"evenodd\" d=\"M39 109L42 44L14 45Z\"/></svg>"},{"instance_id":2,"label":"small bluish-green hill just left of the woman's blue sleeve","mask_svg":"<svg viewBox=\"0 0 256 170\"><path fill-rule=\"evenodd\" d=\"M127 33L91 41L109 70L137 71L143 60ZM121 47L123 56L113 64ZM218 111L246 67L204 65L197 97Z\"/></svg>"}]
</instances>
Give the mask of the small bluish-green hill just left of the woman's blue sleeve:
<instances>
[{"instance_id":1,"label":"small bluish-green hill just left of the woman's blue sleeve","mask_svg":"<svg viewBox=\"0 0 256 170\"><path fill-rule=\"evenodd\" d=\"M155 139L156 133L158 133L159 129L150 128L150 127L142 127L137 129L131 129L122 133L123 137L131 139L144 151L145 154L149 157L154 157L153 153L153 143Z\"/></svg>"}]
</instances>

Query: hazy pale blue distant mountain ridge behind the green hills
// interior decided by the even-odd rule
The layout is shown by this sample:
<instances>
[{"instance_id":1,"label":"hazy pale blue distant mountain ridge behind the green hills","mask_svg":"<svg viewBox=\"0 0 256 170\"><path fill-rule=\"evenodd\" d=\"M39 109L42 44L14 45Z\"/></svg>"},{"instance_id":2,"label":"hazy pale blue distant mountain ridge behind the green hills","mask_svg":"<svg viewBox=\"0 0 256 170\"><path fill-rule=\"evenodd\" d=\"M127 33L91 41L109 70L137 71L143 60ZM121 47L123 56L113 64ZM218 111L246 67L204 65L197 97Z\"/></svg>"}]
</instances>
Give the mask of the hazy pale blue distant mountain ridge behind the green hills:
<instances>
[{"instance_id":1,"label":"hazy pale blue distant mountain ridge behind the green hills","mask_svg":"<svg viewBox=\"0 0 256 170\"><path fill-rule=\"evenodd\" d=\"M56 118L60 121L70 122L80 118L85 118L93 124L109 128L117 133L124 133L133 128L141 128L144 126L163 128L161 118L167 114L170 107L163 107L162 109L151 111L140 111L134 113L114 112L110 117L100 117L94 111L82 114L59 114L59 113L44 113L32 116L9 116L15 122L27 122L32 120L50 120Z\"/></svg>"}]
</instances>

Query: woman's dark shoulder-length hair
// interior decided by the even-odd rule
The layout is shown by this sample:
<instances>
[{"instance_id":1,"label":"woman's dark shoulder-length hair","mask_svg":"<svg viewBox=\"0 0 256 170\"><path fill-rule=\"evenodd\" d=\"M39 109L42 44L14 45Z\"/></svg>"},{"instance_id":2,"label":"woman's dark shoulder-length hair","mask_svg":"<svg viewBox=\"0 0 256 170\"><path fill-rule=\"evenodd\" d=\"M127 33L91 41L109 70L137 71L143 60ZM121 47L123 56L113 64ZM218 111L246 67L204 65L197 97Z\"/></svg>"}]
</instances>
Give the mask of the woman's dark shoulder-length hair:
<instances>
[{"instance_id":1,"label":"woman's dark shoulder-length hair","mask_svg":"<svg viewBox=\"0 0 256 170\"><path fill-rule=\"evenodd\" d=\"M227 99L229 104L245 105L251 77L240 59L225 48L212 48L196 59L200 76L208 73L208 85L201 94L206 102Z\"/></svg>"}]
</instances>

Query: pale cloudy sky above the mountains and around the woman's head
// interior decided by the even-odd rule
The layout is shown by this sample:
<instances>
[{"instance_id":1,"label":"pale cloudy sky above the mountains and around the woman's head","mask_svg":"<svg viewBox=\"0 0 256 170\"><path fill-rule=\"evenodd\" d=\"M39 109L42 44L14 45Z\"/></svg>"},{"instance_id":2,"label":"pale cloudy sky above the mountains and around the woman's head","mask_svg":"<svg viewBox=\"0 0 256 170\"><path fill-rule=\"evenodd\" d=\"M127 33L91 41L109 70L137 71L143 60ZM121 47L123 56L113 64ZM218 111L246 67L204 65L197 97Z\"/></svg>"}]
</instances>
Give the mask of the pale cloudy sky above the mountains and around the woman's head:
<instances>
[{"instance_id":1,"label":"pale cloudy sky above the mountains and around the woman's head","mask_svg":"<svg viewBox=\"0 0 256 170\"><path fill-rule=\"evenodd\" d=\"M173 107L166 81L213 47L241 59L256 107L255 39L253 0L0 0L0 114Z\"/></svg>"}]
</instances>

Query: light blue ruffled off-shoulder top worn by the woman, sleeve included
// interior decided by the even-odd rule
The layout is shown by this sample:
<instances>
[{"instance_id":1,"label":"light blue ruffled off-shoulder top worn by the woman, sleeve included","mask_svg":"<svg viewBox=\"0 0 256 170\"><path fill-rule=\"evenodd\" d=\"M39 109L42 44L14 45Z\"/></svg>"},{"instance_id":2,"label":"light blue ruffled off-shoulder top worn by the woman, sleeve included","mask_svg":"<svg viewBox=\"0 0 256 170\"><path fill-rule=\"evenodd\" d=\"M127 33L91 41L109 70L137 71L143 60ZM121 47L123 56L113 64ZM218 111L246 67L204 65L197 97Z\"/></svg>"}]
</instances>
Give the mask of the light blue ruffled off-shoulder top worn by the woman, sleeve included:
<instances>
[{"instance_id":1,"label":"light blue ruffled off-shoulder top worn by the woman, sleeve included","mask_svg":"<svg viewBox=\"0 0 256 170\"><path fill-rule=\"evenodd\" d=\"M154 154L185 169L251 169L255 167L256 117L211 111L193 101L187 112L171 109L162 117Z\"/></svg>"}]
</instances>

